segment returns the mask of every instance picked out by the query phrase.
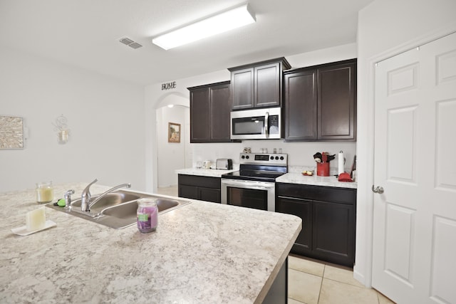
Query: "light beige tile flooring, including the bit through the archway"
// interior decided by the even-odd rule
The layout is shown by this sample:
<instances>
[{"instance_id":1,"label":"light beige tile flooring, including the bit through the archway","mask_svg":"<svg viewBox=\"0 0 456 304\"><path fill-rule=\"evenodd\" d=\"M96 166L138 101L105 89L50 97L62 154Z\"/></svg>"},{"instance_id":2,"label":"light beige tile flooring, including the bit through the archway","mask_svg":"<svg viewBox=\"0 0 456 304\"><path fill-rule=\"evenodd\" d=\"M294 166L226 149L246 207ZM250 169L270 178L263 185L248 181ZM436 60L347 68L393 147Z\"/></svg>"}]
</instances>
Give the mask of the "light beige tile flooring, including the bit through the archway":
<instances>
[{"instance_id":1,"label":"light beige tile flooring, including the bit through the archway","mask_svg":"<svg viewBox=\"0 0 456 304\"><path fill-rule=\"evenodd\" d=\"M177 186L157 189L177 196ZM289 256L289 304L390 304L375 289L353 278L353 270L291 254Z\"/></svg>"}]
</instances>

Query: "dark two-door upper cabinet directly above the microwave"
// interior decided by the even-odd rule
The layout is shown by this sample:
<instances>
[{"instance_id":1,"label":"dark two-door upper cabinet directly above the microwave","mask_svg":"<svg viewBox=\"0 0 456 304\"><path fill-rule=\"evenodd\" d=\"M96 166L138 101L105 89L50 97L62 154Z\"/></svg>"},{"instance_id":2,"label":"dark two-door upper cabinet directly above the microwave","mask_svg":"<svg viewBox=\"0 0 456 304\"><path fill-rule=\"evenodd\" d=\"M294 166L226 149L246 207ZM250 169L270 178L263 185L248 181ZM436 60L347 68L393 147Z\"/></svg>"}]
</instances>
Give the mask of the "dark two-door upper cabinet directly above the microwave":
<instances>
[{"instance_id":1,"label":"dark two-door upper cabinet directly above the microwave","mask_svg":"<svg viewBox=\"0 0 456 304\"><path fill-rule=\"evenodd\" d=\"M282 100L282 72L291 68L285 58L261 61L231 72L232 109L279 107Z\"/></svg>"}]
</instances>

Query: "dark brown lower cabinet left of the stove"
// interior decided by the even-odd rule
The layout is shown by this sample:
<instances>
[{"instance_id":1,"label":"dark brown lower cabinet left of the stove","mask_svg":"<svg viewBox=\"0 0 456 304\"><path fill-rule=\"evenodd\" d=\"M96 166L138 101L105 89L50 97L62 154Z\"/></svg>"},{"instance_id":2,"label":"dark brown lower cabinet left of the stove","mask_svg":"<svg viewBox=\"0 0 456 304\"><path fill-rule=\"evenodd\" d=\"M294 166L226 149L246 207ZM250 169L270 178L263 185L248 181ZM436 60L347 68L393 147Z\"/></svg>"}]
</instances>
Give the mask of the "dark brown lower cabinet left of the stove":
<instances>
[{"instance_id":1,"label":"dark brown lower cabinet left of the stove","mask_svg":"<svg viewBox=\"0 0 456 304\"><path fill-rule=\"evenodd\" d=\"M178 174L177 180L179 197L212 201L214 203L221 201L219 177Z\"/></svg>"}]
</instances>

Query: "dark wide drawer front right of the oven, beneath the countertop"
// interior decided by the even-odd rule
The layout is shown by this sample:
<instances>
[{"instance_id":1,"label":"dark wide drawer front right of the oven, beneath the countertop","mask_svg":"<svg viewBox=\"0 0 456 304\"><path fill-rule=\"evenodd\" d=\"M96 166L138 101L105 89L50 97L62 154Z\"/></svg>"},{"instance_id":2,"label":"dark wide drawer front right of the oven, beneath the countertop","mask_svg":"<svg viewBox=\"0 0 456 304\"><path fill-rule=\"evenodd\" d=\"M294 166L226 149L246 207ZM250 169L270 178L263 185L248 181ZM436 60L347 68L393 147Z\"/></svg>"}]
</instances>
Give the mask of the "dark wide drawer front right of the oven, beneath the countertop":
<instances>
[{"instance_id":1,"label":"dark wide drawer front right of the oven, beneath the countertop","mask_svg":"<svg viewBox=\"0 0 456 304\"><path fill-rule=\"evenodd\" d=\"M356 189L347 188L276 183L276 195L340 204L356 203Z\"/></svg>"}]
</instances>

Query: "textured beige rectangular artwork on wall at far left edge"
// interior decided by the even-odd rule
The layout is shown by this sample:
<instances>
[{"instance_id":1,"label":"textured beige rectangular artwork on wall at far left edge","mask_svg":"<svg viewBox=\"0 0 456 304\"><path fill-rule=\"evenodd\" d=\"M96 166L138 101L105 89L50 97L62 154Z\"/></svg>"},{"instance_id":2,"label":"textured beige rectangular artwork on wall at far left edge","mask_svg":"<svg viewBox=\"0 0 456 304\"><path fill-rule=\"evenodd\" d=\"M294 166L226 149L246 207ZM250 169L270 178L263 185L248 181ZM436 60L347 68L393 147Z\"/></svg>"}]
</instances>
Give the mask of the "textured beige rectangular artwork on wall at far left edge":
<instances>
[{"instance_id":1,"label":"textured beige rectangular artwork on wall at far left edge","mask_svg":"<svg viewBox=\"0 0 456 304\"><path fill-rule=\"evenodd\" d=\"M0 116L1 149L24 149L24 120L22 117Z\"/></svg>"}]
</instances>

